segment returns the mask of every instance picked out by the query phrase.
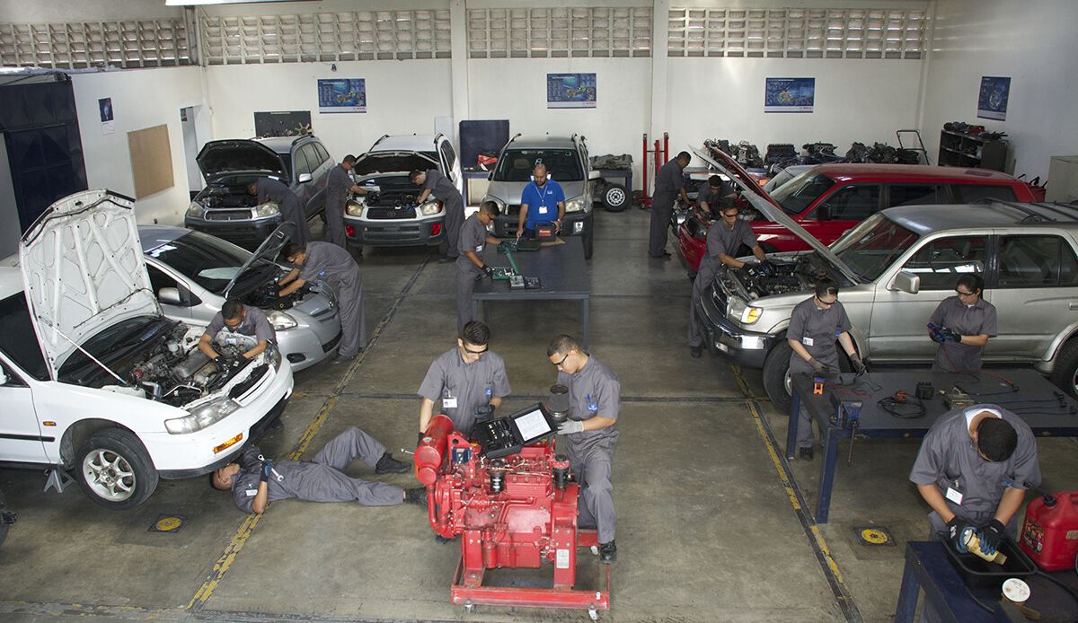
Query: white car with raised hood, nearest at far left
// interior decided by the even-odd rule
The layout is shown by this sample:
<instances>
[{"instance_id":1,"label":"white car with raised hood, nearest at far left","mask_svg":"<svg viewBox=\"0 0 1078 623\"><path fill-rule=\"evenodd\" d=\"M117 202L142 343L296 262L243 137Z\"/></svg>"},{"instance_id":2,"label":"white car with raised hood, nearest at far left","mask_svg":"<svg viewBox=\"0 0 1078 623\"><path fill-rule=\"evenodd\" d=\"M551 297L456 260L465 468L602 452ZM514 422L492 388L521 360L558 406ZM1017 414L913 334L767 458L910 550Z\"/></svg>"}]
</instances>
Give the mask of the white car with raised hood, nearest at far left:
<instances>
[{"instance_id":1,"label":"white car with raised hood, nearest at far left","mask_svg":"<svg viewBox=\"0 0 1078 623\"><path fill-rule=\"evenodd\" d=\"M60 199L23 236L19 268L0 268L0 462L69 471L110 509L224 465L292 393L276 349L218 370L201 327L162 315L133 206Z\"/></svg>"}]
</instances>

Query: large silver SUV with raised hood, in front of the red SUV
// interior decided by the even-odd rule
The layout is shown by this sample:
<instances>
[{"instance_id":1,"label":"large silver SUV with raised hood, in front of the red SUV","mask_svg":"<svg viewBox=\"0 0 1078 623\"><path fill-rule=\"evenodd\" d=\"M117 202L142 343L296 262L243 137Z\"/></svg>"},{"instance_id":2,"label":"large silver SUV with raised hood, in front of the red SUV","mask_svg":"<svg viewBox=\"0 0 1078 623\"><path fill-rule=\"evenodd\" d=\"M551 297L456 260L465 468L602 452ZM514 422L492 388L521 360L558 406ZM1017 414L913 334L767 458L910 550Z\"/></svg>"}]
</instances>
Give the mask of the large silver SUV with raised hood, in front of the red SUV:
<instances>
[{"instance_id":1,"label":"large silver SUV with raised hood, in front of the red SUV","mask_svg":"<svg viewBox=\"0 0 1078 623\"><path fill-rule=\"evenodd\" d=\"M706 318L713 352L763 369L776 409L789 406L790 313L823 274L840 283L862 359L925 364L937 348L925 329L929 316L954 294L959 275L979 274L999 322L983 361L1032 364L1078 396L1078 207L995 199L902 206L873 214L826 247L731 179L754 207L814 249L769 255L777 268L771 277L720 271L696 309Z\"/></svg>"}]
</instances>

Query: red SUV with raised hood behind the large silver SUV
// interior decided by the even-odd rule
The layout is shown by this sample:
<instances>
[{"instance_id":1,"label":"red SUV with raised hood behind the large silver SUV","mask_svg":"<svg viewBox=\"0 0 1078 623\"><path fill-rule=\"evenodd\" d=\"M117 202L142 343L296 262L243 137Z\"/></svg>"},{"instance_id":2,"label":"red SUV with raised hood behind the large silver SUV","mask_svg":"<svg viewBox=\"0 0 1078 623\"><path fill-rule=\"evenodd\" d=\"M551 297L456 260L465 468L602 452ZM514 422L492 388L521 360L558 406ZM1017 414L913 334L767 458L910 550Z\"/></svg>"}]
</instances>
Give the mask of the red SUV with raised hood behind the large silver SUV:
<instances>
[{"instance_id":1,"label":"red SUV with raised hood behind the large silver SUV","mask_svg":"<svg viewBox=\"0 0 1078 623\"><path fill-rule=\"evenodd\" d=\"M754 192L778 206L825 245L884 208L913 204L971 204L982 198L1035 200L1025 182L986 169L927 165L818 165L789 180L769 195L732 157L705 143L705 152ZM706 182L704 182L706 183ZM808 245L783 225L765 220L744 199L741 218L750 221L760 247L768 253L807 250ZM710 217L699 209L677 232L678 250L689 271L700 266ZM747 250L744 253L748 254Z\"/></svg>"}]
</instances>

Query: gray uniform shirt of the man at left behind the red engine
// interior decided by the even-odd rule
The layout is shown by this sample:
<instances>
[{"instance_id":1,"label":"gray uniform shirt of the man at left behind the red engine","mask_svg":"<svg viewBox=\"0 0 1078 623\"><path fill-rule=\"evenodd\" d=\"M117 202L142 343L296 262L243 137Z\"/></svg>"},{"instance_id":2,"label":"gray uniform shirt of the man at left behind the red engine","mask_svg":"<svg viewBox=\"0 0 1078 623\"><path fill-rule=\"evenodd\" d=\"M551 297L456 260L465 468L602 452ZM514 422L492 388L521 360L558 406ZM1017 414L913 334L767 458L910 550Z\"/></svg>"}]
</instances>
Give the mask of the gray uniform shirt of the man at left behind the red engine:
<instances>
[{"instance_id":1,"label":"gray uniform shirt of the man at left behind the red engine","mask_svg":"<svg viewBox=\"0 0 1078 623\"><path fill-rule=\"evenodd\" d=\"M487 351L468 363L460 358L460 349L454 348L430 364L418 393L427 400L441 400L441 413L467 435L475 424L475 407L489 404L492 398L506 398L511 391L500 356Z\"/></svg>"}]
</instances>

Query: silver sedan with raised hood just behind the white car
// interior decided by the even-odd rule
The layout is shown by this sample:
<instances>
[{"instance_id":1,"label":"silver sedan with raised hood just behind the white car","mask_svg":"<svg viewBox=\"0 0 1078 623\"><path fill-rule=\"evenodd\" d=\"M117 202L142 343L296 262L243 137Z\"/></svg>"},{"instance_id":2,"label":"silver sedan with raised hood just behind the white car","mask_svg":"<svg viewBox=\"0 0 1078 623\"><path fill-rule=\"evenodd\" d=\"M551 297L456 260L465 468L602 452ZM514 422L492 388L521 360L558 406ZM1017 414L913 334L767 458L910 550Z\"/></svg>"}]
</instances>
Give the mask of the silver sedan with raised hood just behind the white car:
<instances>
[{"instance_id":1,"label":"silver sedan with raised hood just behind the white car","mask_svg":"<svg viewBox=\"0 0 1078 623\"><path fill-rule=\"evenodd\" d=\"M202 232L139 226L150 285L165 316L209 324L225 299L234 296L266 313L277 333L277 346L292 370L333 355L341 341L333 290L316 283L309 291L277 296L276 281L287 269L273 260L287 238L275 237L288 226L278 227L254 253Z\"/></svg>"}]
</instances>

